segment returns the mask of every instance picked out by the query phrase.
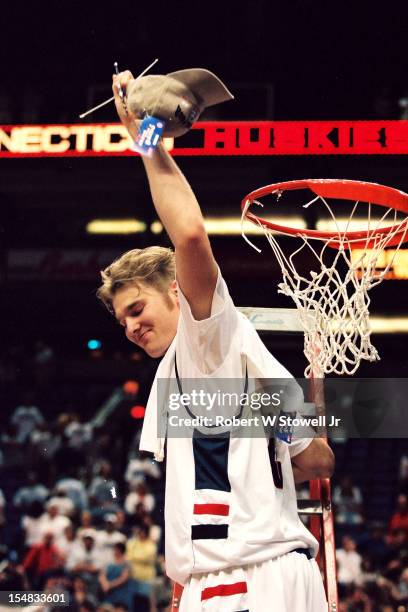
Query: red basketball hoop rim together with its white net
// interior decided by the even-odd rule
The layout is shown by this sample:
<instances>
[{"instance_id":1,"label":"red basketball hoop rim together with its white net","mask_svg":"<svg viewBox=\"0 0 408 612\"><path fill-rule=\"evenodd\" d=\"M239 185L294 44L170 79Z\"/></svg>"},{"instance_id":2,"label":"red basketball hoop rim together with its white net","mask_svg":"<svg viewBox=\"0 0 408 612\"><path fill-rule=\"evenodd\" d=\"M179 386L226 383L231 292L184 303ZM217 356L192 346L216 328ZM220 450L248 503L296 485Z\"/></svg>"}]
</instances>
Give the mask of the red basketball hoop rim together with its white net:
<instances>
[{"instance_id":1,"label":"red basketball hoop rim together with its white net","mask_svg":"<svg viewBox=\"0 0 408 612\"><path fill-rule=\"evenodd\" d=\"M282 213L285 195L293 191L299 192L305 209L324 208L331 231L293 228L271 220ZM260 202L265 196L272 196L274 202L270 198L268 203ZM345 222L336 214L339 200L348 201ZM259 206L264 207L263 217ZM242 201L242 222L248 219L264 231L282 270L279 293L291 297L298 309L308 360L305 376L351 375L361 360L379 359L370 338L368 292L381 283L398 249L408 241L407 213L408 195L402 191L338 179L276 183L251 192ZM357 221L363 226L358 231L353 229ZM260 252L246 237L244 226L242 235ZM297 238L291 254L281 245L282 235ZM378 261L387 247L394 247L393 255L380 268ZM311 257L314 269L304 272L304 262Z\"/></svg>"}]
</instances>

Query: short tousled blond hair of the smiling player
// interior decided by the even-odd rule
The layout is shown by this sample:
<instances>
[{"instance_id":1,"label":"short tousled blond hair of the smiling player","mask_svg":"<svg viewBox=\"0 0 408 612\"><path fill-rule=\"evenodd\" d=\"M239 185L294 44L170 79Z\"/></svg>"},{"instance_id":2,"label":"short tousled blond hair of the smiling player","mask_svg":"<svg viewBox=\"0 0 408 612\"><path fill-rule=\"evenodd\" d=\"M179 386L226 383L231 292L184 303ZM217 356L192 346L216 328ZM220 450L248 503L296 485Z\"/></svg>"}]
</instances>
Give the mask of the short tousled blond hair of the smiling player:
<instances>
[{"instance_id":1,"label":"short tousled blond hair of the smiling player","mask_svg":"<svg viewBox=\"0 0 408 612\"><path fill-rule=\"evenodd\" d=\"M175 276L176 261L171 249L158 246L133 249L101 271L102 285L96 296L114 314L112 300L121 287L143 282L164 293Z\"/></svg>"}]
</instances>

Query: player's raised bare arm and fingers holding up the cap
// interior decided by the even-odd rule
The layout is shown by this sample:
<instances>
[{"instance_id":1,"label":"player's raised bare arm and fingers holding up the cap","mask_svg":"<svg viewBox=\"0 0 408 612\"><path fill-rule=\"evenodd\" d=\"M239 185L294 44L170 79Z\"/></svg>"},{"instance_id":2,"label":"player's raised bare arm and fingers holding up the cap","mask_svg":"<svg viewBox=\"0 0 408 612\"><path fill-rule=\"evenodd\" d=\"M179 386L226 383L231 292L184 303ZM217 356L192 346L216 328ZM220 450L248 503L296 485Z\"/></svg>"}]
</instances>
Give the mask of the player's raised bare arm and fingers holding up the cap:
<instances>
[{"instance_id":1,"label":"player's raised bare arm and fingers holding up the cap","mask_svg":"<svg viewBox=\"0 0 408 612\"><path fill-rule=\"evenodd\" d=\"M113 93L120 120L135 140L140 121L126 115L118 93L133 79L129 71L113 77ZM217 282L217 264L205 231L197 199L174 159L159 144L152 157L143 157L157 214L173 243L177 280L195 319L210 316Z\"/></svg>"}]
</instances>

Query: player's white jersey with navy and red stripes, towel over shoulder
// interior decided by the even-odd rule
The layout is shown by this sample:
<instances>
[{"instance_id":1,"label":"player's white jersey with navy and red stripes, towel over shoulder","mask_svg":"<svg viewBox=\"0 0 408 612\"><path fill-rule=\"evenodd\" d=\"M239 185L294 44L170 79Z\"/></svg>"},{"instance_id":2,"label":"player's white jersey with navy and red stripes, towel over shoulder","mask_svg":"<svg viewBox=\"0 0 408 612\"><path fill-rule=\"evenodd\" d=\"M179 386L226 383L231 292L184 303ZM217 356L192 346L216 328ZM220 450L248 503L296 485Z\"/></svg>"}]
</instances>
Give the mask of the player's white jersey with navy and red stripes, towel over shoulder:
<instances>
[{"instance_id":1,"label":"player's white jersey with navy and red stripes, towel over shoulder","mask_svg":"<svg viewBox=\"0 0 408 612\"><path fill-rule=\"evenodd\" d=\"M179 291L177 334L161 361L147 404L140 449L164 456L158 434L158 379L291 379L252 324L235 308L219 275L211 316L196 321ZM299 394L296 402L303 401ZM296 410L296 405L292 408ZM166 568L185 584L192 574L261 563L318 544L299 519L291 457L310 444L229 436L167 438ZM272 443L272 452L271 452Z\"/></svg>"}]
</instances>

